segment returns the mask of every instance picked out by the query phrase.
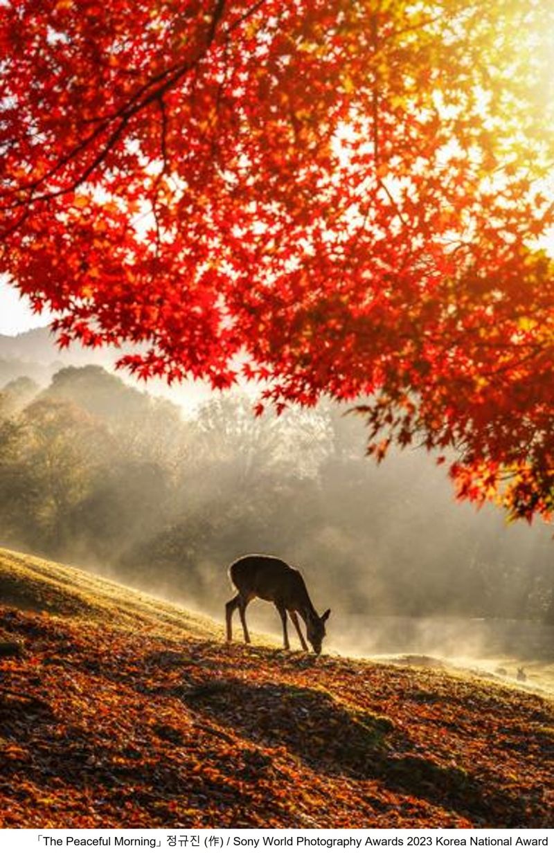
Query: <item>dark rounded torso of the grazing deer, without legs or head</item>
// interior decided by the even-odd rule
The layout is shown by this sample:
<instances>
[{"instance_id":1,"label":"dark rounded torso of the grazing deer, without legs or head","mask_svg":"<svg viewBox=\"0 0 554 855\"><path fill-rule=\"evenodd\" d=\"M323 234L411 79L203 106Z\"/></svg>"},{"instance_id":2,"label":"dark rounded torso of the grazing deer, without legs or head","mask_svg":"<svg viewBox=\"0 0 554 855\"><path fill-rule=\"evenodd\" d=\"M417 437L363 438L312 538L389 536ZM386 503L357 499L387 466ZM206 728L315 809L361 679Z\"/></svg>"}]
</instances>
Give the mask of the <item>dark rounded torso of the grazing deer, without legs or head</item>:
<instances>
[{"instance_id":1,"label":"dark rounded torso of the grazing deer, without legs or head","mask_svg":"<svg viewBox=\"0 0 554 855\"><path fill-rule=\"evenodd\" d=\"M229 568L234 587L245 596L293 604L305 592L298 570L271 555L245 555Z\"/></svg>"}]
</instances>

